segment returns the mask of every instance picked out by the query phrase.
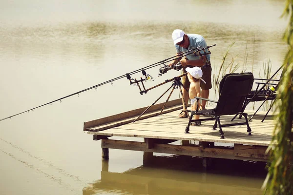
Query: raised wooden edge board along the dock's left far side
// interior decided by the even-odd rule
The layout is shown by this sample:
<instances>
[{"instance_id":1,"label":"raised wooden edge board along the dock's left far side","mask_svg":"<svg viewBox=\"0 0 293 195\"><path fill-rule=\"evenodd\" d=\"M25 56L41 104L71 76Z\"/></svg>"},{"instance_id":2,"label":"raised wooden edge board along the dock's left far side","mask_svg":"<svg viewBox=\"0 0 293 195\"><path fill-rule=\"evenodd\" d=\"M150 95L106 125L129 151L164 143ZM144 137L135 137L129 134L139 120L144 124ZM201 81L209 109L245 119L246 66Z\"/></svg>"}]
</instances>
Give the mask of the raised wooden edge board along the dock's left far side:
<instances>
[{"instance_id":1,"label":"raised wooden edge board along the dock's left far side","mask_svg":"<svg viewBox=\"0 0 293 195\"><path fill-rule=\"evenodd\" d=\"M165 104L165 102L153 105L148 109L148 111L146 111L146 113L151 113L151 112L154 112L154 111L161 110L164 104ZM182 99L178 98L178 99L175 99L175 100L168 101L167 105L166 105L166 108L176 106L176 105L180 105L180 104L182 106ZM142 114L146 110L146 108L147 107L139 108L139 109L136 109L136 110L132 110L132 111L128 111L128 112L125 112L125 113L113 115L113 116L110 116L110 117L104 117L104 118L100 118L100 119L97 119L97 120L84 122L84 131L87 128L99 126L101 124L105 124L105 123L109 123L109 122L113 122L113 121L118 121L118 120L123 120L123 119L129 118L129 117L139 116L140 114ZM181 108L178 108L178 109L181 109Z\"/></svg>"}]
</instances>

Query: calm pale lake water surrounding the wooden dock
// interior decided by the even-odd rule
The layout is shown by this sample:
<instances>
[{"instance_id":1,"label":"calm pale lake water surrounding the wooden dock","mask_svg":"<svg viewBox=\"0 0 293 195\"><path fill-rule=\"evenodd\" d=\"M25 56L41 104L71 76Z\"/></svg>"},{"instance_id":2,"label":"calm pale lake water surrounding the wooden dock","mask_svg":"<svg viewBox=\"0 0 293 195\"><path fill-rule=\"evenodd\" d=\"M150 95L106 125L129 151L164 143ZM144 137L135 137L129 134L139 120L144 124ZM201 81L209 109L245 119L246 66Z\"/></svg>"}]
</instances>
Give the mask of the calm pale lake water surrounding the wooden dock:
<instances>
[{"instance_id":1,"label":"calm pale lake water surrounding the wooden dock","mask_svg":"<svg viewBox=\"0 0 293 195\"><path fill-rule=\"evenodd\" d=\"M287 51L283 8L284 0L1 1L0 118L174 56L177 28L216 44L215 78L234 41L226 63L233 59L236 72L264 78L264 65L274 73ZM179 75L158 73L147 70L155 78L147 88ZM122 78L0 121L0 194L262 194L263 163L218 159L205 173L195 157L155 154L145 163L141 152L110 150L102 164L101 142L83 132L83 123L148 106L167 87L141 96ZM217 98L214 88L209 98Z\"/></svg>"}]
</instances>

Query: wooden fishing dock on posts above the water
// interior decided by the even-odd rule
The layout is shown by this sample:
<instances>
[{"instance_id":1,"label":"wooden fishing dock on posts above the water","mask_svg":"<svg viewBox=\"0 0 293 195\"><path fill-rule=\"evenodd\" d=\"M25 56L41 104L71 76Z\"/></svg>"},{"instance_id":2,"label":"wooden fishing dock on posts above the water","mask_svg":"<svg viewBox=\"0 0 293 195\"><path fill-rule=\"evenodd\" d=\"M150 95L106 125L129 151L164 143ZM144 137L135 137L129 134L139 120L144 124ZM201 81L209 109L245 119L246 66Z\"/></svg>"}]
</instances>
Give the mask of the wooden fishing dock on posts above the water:
<instances>
[{"instance_id":1,"label":"wooden fishing dock on posts above the water","mask_svg":"<svg viewBox=\"0 0 293 195\"><path fill-rule=\"evenodd\" d=\"M204 166L208 164L208 157L252 161L268 160L266 150L271 143L274 128L274 120L271 115L268 115L264 122L261 122L264 112L258 112L253 117L250 121L252 136L248 136L246 125L239 125L224 127L223 132L226 138L221 139L218 130L211 130L214 120L202 121L200 126L190 126L189 134L185 133L188 118L177 117L182 109L181 98L167 102L167 106L160 115L163 105L164 103L151 106L136 122L133 120L147 107L84 122L84 131L93 135L94 140L101 139L104 159L108 159L108 149L122 149L149 154L200 156L203 157ZM254 113L254 111L245 112L249 114L249 117ZM221 124L231 123L232 117L222 116ZM245 119L237 117L235 120L244 121ZM112 139L113 136L143 137L144 141L115 140ZM171 144L177 140L182 140L180 145ZM226 147L225 144L229 147Z\"/></svg>"}]
</instances>

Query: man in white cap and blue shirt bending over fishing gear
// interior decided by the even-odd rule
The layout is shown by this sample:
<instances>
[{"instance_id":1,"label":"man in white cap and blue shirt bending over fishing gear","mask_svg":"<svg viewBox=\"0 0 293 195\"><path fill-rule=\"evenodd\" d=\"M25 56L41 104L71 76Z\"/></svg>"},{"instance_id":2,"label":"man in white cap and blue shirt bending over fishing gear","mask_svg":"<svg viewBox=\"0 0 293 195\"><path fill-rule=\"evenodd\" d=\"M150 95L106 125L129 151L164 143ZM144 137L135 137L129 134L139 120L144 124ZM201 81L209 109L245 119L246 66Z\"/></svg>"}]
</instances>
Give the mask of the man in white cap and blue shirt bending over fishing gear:
<instances>
[{"instance_id":1,"label":"man in white cap and blue shirt bending over fishing gear","mask_svg":"<svg viewBox=\"0 0 293 195\"><path fill-rule=\"evenodd\" d=\"M183 52L186 52L190 50L191 48L195 47L207 47L206 40L201 36L197 34L185 34L183 30L176 29L172 33L172 39L174 41L174 45L176 48L177 54L181 54ZM207 52L207 51L206 51ZM201 53L204 53L204 51L201 51ZM211 66L210 66L210 55L206 56L194 56L193 54L187 55L184 58L173 60L169 66L172 66L174 64L177 64L180 60L181 65L183 66L183 73L186 73L186 67L202 67L206 64L206 66L202 67L203 72L203 79L206 81L203 82L200 80L200 88L201 91L201 98L209 98L209 89L211 89ZM207 63L206 63L207 62ZM207 65L208 64L208 65ZM190 82L187 78L187 76L182 77L182 83L185 86L185 88L189 89ZM188 91L183 90L183 98L188 103ZM183 102L182 102L183 103ZM203 100L202 102L202 109L205 109L207 101ZM187 111L184 109L179 114L180 118L186 118L188 117Z\"/></svg>"}]
</instances>

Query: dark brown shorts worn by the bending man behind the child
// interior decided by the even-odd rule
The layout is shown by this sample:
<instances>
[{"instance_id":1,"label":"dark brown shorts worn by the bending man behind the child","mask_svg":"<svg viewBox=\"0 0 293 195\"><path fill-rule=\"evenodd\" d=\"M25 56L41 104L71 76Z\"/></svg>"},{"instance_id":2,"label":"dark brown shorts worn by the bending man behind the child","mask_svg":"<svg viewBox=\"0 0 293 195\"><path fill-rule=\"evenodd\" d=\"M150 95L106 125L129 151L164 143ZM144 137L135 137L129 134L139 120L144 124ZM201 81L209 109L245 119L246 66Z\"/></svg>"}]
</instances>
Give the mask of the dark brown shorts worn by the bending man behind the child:
<instances>
[{"instance_id":1,"label":"dark brown shorts worn by the bending man behind the child","mask_svg":"<svg viewBox=\"0 0 293 195\"><path fill-rule=\"evenodd\" d=\"M190 67L192 68L193 66L187 65L185 67L183 67L182 69L182 74L186 73L186 68ZM199 83L200 83L200 88L207 90L207 89L211 89L211 66L203 66L201 67L202 71L203 71L203 76L202 79L204 79L206 81L206 83L204 83L204 81L202 81L201 79L199 79ZM187 75L182 77L182 84L185 88L189 88L190 82L188 80Z\"/></svg>"}]
</instances>

